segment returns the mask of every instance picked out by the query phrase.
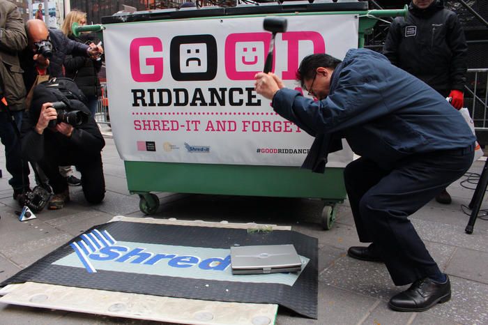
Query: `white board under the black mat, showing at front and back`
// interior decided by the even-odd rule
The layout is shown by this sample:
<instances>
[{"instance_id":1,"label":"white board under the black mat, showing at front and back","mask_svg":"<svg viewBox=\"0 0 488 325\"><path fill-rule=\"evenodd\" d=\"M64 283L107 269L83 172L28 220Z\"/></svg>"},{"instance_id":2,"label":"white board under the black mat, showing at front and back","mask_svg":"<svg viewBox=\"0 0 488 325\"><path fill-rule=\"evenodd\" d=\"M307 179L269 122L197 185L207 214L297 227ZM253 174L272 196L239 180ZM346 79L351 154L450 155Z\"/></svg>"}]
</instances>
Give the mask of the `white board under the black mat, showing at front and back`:
<instances>
[{"instance_id":1,"label":"white board under the black mat, showing at front and back","mask_svg":"<svg viewBox=\"0 0 488 325\"><path fill-rule=\"evenodd\" d=\"M291 227L255 223L206 222L116 216L110 220L123 222L191 225L270 231ZM66 287L37 282L8 285L0 289L0 303L29 307L85 312L96 315L145 319L176 324L275 324L278 305L267 303L232 303L197 299L130 294L98 289Z\"/></svg>"}]
</instances>

